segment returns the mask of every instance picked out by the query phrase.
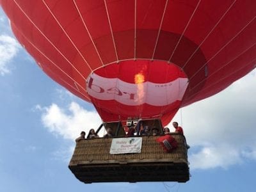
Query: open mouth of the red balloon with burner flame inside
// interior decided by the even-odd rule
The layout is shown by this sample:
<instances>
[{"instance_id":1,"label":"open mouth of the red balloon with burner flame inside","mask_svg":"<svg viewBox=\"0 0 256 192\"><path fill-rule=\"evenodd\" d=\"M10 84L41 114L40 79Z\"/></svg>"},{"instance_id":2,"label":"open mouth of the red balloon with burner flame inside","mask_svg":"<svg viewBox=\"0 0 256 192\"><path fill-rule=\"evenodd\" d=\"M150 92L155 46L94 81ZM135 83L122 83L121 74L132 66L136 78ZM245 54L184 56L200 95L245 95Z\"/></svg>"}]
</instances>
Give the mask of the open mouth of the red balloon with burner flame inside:
<instances>
[{"instance_id":1,"label":"open mouth of the red balloon with burner flame inside","mask_svg":"<svg viewBox=\"0 0 256 192\"><path fill-rule=\"evenodd\" d=\"M122 61L99 68L86 79L99 113L125 117L150 118L177 110L187 87L186 74L167 61Z\"/></svg>"}]
</instances>

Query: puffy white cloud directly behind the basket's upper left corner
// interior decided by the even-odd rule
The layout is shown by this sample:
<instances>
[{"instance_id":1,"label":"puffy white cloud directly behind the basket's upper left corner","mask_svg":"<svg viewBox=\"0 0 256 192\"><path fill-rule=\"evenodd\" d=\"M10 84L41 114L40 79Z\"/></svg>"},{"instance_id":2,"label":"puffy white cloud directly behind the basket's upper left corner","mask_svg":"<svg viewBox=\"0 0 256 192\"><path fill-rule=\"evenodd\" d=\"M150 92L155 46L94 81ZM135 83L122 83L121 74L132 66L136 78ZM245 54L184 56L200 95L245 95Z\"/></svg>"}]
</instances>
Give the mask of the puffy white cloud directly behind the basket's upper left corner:
<instances>
[{"instance_id":1,"label":"puffy white cloud directly behind the basket's upper left corner","mask_svg":"<svg viewBox=\"0 0 256 192\"><path fill-rule=\"evenodd\" d=\"M50 132L69 140L75 140L81 131L87 134L90 129L96 130L101 124L95 111L87 111L76 102L71 102L68 109L62 109L57 104L36 108L44 111L42 122Z\"/></svg>"}]
</instances>

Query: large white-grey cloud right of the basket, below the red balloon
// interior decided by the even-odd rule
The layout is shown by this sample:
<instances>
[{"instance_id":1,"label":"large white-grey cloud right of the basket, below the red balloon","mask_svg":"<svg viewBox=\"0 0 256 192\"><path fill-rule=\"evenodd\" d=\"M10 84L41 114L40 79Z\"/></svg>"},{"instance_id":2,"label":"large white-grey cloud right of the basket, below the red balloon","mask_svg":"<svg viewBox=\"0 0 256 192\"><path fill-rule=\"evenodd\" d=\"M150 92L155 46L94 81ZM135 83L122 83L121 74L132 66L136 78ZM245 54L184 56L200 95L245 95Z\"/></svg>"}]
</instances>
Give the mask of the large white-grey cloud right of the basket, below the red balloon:
<instances>
[{"instance_id":1,"label":"large white-grey cloud right of the basket, below the red balloon","mask_svg":"<svg viewBox=\"0 0 256 192\"><path fill-rule=\"evenodd\" d=\"M256 70L173 118L182 122L191 146L191 169L228 168L248 158L256 160L255 80Z\"/></svg>"}]
</instances>

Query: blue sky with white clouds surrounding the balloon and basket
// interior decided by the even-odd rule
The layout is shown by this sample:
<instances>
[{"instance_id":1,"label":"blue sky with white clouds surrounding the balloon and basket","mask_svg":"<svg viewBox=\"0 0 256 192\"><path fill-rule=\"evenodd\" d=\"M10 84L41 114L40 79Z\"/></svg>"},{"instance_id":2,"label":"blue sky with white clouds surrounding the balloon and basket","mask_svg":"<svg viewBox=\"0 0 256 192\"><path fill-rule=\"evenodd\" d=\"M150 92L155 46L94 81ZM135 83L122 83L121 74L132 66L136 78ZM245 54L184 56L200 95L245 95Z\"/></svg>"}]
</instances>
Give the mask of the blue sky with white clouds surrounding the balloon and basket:
<instances>
[{"instance_id":1,"label":"blue sky with white clouds surrounding the balloon and basket","mask_svg":"<svg viewBox=\"0 0 256 192\"><path fill-rule=\"evenodd\" d=\"M190 180L83 184L68 170L74 139L99 127L92 104L55 83L19 45L0 8L1 191L255 191L256 70L180 109ZM173 127L169 125L170 128Z\"/></svg>"}]
</instances>

